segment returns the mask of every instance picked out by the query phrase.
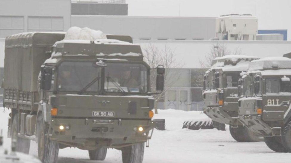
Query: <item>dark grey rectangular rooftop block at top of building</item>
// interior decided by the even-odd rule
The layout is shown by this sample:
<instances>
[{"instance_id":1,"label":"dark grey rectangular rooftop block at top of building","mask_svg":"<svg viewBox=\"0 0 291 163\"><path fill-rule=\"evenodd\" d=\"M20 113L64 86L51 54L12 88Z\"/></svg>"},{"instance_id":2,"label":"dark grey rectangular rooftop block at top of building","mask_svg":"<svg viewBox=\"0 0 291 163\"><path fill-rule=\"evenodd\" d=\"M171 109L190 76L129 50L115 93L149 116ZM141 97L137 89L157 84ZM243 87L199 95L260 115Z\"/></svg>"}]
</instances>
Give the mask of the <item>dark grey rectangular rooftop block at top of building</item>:
<instances>
[{"instance_id":1,"label":"dark grey rectangular rooftop block at top of building","mask_svg":"<svg viewBox=\"0 0 291 163\"><path fill-rule=\"evenodd\" d=\"M72 15L127 15L128 4L72 3Z\"/></svg>"}]
</instances>

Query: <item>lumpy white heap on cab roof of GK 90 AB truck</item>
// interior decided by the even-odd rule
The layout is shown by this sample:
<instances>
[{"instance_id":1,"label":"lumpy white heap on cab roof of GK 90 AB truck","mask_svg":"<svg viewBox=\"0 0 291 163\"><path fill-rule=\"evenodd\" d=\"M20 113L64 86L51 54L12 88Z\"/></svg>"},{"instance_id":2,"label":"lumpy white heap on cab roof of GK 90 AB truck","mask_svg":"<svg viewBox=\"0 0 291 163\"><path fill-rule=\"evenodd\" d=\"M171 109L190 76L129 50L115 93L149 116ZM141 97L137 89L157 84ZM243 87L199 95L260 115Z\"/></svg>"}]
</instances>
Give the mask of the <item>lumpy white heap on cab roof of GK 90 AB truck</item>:
<instances>
[{"instance_id":1,"label":"lumpy white heap on cab roof of GK 90 AB truck","mask_svg":"<svg viewBox=\"0 0 291 163\"><path fill-rule=\"evenodd\" d=\"M96 39L107 39L106 35L102 31L96 31L88 27L71 27L66 32L64 40L89 40L95 41Z\"/></svg>"}]
</instances>

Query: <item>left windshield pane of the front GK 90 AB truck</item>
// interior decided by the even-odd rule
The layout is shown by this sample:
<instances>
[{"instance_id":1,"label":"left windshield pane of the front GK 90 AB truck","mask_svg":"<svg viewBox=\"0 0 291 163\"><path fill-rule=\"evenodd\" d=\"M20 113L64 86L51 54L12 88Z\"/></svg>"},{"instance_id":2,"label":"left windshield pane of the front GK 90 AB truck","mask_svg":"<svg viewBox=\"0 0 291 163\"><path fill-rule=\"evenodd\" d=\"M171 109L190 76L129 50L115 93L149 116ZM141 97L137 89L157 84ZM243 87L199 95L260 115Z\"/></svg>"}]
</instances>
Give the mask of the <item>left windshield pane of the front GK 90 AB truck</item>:
<instances>
[{"instance_id":1,"label":"left windshield pane of the front GK 90 AB truck","mask_svg":"<svg viewBox=\"0 0 291 163\"><path fill-rule=\"evenodd\" d=\"M62 62L58 67L58 90L80 91L92 80L96 82L88 87L85 92L97 92L101 89L101 68L93 67L92 62Z\"/></svg>"}]
</instances>

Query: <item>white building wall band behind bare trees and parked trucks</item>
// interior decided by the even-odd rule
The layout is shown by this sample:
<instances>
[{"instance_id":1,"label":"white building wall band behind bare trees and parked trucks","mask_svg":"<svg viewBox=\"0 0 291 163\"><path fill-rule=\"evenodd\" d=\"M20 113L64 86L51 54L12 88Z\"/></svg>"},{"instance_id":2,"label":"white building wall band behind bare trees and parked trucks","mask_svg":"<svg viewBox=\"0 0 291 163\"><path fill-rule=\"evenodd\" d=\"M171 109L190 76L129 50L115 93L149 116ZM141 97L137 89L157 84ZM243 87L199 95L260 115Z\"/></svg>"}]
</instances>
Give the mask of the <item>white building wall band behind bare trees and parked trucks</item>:
<instances>
[{"instance_id":1,"label":"white building wall band behind bare trees and parked trucks","mask_svg":"<svg viewBox=\"0 0 291 163\"><path fill-rule=\"evenodd\" d=\"M184 63L184 68L200 68L200 62L205 62L205 55L216 41L198 40L134 40L142 48L153 44L160 49L165 46L174 51L177 61ZM261 58L270 56L283 56L291 52L291 41L218 41L218 44L226 46L227 50L241 50L242 55L258 56Z\"/></svg>"}]
</instances>

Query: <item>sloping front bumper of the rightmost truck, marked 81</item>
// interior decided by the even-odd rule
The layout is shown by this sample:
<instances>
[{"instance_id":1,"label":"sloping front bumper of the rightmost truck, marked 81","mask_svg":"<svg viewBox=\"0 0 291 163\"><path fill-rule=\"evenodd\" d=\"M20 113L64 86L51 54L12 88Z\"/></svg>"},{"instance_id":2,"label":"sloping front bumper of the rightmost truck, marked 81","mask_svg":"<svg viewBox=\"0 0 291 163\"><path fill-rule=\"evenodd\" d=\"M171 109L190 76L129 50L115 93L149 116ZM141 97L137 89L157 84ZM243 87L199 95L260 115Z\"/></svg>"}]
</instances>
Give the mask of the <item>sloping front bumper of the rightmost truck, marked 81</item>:
<instances>
[{"instance_id":1,"label":"sloping front bumper of the rightmost truck, marked 81","mask_svg":"<svg viewBox=\"0 0 291 163\"><path fill-rule=\"evenodd\" d=\"M270 127L261 120L261 115L239 115L239 121L262 136L281 136L281 127Z\"/></svg>"}]
</instances>

